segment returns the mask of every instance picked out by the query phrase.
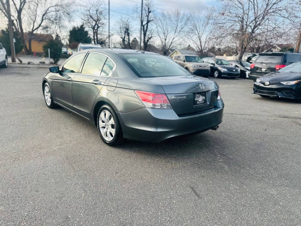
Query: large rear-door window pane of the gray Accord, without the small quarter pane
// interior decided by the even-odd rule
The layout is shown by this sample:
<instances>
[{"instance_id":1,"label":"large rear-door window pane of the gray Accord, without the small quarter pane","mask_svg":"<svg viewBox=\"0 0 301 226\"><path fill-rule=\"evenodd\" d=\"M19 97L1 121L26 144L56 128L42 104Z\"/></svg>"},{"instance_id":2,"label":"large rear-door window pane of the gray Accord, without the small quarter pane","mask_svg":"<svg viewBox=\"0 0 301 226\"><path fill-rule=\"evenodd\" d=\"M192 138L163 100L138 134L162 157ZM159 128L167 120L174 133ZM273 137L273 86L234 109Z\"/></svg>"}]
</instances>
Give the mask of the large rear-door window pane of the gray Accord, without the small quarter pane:
<instances>
[{"instance_id":1,"label":"large rear-door window pane of the gray Accord, without the small quarter pane","mask_svg":"<svg viewBox=\"0 0 301 226\"><path fill-rule=\"evenodd\" d=\"M89 53L82 67L82 74L100 75L106 59L102 54Z\"/></svg>"}]
</instances>

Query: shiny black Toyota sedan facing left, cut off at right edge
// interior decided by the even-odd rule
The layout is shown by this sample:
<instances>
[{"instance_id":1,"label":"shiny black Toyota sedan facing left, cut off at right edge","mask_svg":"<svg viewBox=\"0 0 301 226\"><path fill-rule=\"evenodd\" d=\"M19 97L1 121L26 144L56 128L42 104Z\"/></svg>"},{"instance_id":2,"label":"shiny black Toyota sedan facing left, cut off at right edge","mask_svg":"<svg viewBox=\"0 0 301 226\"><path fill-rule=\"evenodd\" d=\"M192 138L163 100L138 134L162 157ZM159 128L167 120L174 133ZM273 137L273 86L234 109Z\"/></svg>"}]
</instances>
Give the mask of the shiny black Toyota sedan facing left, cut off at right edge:
<instances>
[{"instance_id":1,"label":"shiny black Toyota sedan facing left, cut off at right edge","mask_svg":"<svg viewBox=\"0 0 301 226\"><path fill-rule=\"evenodd\" d=\"M301 100L301 62L257 78L252 93Z\"/></svg>"}]
</instances>

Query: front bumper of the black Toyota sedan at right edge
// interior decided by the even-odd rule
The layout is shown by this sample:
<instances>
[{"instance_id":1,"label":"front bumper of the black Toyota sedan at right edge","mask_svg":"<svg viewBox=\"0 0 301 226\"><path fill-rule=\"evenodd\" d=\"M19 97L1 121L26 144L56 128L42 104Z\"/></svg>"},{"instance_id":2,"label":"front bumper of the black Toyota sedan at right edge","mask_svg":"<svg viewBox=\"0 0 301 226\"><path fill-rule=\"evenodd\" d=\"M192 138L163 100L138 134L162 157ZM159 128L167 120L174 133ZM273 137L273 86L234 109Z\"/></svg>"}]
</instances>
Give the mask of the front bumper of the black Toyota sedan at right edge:
<instances>
[{"instance_id":1,"label":"front bumper of the black Toyota sedan at right edge","mask_svg":"<svg viewBox=\"0 0 301 226\"><path fill-rule=\"evenodd\" d=\"M288 99L301 99L301 85L296 84L293 86L287 85L271 85L264 86L255 82L253 86L253 94L275 96Z\"/></svg>"}]
</instances>

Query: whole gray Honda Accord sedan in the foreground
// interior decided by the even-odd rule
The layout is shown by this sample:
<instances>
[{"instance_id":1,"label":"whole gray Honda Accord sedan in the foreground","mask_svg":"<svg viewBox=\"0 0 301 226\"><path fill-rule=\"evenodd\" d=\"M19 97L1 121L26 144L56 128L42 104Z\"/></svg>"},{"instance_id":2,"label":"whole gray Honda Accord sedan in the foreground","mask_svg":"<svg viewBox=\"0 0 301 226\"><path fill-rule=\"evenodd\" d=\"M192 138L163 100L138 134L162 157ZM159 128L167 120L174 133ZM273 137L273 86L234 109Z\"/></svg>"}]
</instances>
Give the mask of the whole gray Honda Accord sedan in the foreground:
<instances>
[{"instance_id":1,"label":"whole gray Honda Accord sedan in the foreground","mask_svg":"<svg viewBox=\"0 0 301 226\"><path fill-rule=\"evenodd\" d=\"M47 107L84 117L108 145L124 138L160 142L222 122L217 83L159 54L90 49L49 70L42 81Z\"/></svg>"}]
</instances>

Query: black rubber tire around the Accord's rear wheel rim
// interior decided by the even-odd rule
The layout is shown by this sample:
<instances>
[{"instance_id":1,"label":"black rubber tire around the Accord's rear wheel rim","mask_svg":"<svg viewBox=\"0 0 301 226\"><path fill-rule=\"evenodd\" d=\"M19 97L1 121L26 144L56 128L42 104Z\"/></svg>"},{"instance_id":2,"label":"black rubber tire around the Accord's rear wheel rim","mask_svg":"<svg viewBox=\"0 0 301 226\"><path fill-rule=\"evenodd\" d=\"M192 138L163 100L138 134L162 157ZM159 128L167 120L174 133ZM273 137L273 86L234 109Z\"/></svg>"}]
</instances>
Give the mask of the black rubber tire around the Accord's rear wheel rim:
<instances>
[{"instance_id":1,"label":"black rubber tire around the Accord's rear wheel rim","mask_svg":"<svg viewBox=\"0 0 301 226\"><path fill-rule=\"evenodd\" d=\"M105 139L105 137L103 137L103 134L101 132L101 128L99 125L99 117L100 114L104 111L107 110L109 111L109 113L111 114L111 116L114 119L114 129L115 129L115 134L112 140L108 141ZM108 122L107 122L108 123ZM101 137L101 139L103 140L104 143L110 145L110 146L117 146L121 143L124 142L124 138L123 138L123 133L122 133L122 129L120 126L120 122L119 119L114 111L114 109L109 106L109 105L103 105L99 110L98 110L98 114L97 114L97 128L98 128L98 132L99 132L99 136ZM108 131L107 131L108 132ZM112 133L111 133L112 134Z\"/></svg>"}]
</instances>

